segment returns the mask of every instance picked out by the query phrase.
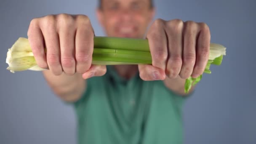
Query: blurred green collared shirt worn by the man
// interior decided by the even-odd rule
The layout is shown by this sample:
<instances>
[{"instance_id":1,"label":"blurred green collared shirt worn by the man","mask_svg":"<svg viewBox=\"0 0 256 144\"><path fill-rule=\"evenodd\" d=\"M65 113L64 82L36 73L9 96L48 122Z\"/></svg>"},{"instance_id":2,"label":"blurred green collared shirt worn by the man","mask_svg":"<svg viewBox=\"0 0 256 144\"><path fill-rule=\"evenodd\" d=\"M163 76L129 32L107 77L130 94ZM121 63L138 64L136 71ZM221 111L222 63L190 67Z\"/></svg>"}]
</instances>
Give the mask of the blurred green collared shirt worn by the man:
<instances>
[{"instance_id":1,"label":"blurred green collared shirt worn by the man","mask_svg":"<svg viewBox=\"0 0 256 144\"><path fill-rule=\"evenodd\" d=\"M74 103L78 144L182 144L184 97L163 81L120 77L113 66L87 80Z\"/></svg>"}]
</instances>

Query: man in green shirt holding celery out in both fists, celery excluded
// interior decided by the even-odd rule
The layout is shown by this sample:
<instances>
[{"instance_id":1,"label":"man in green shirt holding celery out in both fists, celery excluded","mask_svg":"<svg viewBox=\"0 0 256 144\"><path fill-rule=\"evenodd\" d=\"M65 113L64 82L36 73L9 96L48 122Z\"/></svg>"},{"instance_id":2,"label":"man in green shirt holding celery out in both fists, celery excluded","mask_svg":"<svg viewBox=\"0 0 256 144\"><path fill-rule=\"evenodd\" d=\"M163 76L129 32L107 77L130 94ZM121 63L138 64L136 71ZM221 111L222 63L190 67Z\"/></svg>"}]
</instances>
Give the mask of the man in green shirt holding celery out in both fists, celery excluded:
<instances>
[{"instance_id":1,"label":"man in green shirt holding celery out in both fists, celery excluded","mask_svg":"<svg viewBox=\"0 0 256 144\"><path fill-rule=\"evenodd\" d=\"M85 15L31 21L35 59L49 69L43 75L54 93L74 104L80 144L182 142L184 82L203 73L210 31L204 23L157 19L146 32L154 15L151 0L101 0L97 8L108 36L149 40L152 65L139 66L91 65L94 32Z\"/></svg>"}]
</instances>

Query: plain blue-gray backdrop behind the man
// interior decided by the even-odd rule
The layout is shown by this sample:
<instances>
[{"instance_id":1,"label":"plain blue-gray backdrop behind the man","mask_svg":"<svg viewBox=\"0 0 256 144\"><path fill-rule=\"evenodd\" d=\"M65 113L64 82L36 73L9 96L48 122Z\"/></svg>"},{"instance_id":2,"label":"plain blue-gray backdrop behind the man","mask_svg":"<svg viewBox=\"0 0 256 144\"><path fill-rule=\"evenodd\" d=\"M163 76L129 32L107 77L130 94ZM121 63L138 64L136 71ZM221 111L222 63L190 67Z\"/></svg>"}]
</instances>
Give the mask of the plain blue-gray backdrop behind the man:
<instances>
[{"instance_id":1,"label":"plain blue-gray backdrop behind the man","mask_svg":"<svg viewBox=\"0 0 256 144\"><path fill-rule=\"evenodd\" d=\"M0 144L73 144L71 106L53 95L41 72L5 70L7 49L27 37L34 17L86 14L96 35L96 0L0 0ZM256 144L255 0L157 0L155 18L203 21L211 42L227 47L184 105L185 144Z\"/></svg>"}]
</instances>

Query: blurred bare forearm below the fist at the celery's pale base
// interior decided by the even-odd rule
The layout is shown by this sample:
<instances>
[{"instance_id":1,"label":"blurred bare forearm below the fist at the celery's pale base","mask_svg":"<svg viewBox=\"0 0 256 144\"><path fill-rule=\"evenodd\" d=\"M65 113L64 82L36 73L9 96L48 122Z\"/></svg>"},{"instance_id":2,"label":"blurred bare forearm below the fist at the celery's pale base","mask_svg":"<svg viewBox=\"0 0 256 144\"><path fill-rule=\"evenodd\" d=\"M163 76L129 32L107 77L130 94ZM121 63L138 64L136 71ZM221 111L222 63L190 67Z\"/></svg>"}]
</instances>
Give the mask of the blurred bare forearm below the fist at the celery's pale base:
<instances>
[{"instance_id":1,"label":"blurred bare forearm below the fist at the celery's pale base","mask_svg":"<svg viewBox=\"0 0 256 144\"><path fill-rule=\"evenodd\" d=\"M56 76L50 70L45 70L43 75L52 91L64 101L77 101L85 91L86 83L79 73Z\"/></svg>"}]
</instances>

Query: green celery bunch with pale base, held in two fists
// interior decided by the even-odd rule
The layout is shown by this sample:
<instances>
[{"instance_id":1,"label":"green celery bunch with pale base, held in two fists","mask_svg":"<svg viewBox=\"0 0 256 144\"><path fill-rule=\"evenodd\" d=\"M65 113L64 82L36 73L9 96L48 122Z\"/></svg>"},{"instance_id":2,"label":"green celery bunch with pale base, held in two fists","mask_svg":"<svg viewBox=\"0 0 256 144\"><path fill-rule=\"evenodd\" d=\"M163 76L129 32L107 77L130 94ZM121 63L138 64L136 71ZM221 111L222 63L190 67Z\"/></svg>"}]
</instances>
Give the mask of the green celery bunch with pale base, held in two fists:
<instances>
[{"instance_id":1,"label":"green celery bunch with pale base, held in two fists","mask_svg":"<svg viewBox=\"0 0 256 144\"><path fill-rule=\"evenodd\" d=\"M211 43L208 64L205 73L210 74L211 64L220 65L226 48L219 44ZM24 70L44 70L37 66L32 49L27 38L20 37L11 48L8 49L6 63L11 72ZM148 40L120 38L120 37L94 37L92 64L152 64ZM192 85L202 78L189 77L184 85L184 91L188 93Z\"/></svg>"}]
</instances>

